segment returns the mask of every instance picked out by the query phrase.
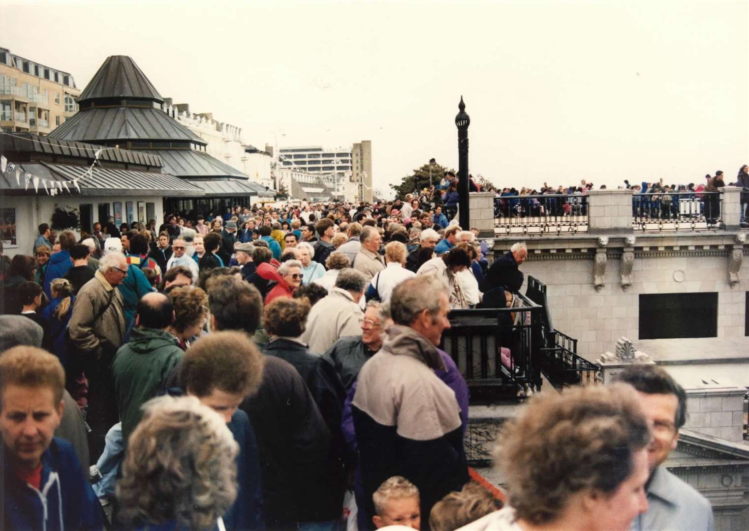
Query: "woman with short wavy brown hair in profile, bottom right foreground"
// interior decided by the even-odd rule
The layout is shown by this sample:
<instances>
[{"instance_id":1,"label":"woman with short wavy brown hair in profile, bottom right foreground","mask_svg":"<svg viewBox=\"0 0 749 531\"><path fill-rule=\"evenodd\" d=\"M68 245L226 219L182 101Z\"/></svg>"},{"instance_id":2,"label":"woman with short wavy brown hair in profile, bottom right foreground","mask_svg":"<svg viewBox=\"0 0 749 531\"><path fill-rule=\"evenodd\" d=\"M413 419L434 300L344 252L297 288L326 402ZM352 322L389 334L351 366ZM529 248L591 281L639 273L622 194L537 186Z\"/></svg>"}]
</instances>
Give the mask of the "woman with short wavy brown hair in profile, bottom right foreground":
<instances>
[{"instance_id":1,"label":"woman with short wavy brown hair in profile, bottom right foreground","mask_svg":"<svg viewBox=\"0 0 749 531\"><path fill-rule=\"evenodd\" d=\"M461 531L626 531L648 508L651 432L627 384L536 395L502 428L508 505Z\"/></svg>"}]
</instances>

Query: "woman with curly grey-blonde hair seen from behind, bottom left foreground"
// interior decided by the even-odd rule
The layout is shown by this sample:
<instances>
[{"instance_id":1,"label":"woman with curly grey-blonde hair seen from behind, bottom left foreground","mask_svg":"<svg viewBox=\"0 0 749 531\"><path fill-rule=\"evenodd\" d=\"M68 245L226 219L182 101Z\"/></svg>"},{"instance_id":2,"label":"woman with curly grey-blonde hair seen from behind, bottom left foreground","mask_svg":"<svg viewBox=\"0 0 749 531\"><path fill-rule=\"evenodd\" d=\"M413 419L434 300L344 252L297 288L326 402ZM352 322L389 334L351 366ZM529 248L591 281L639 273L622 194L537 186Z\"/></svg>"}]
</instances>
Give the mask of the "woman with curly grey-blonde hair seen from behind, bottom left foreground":
<instances>
[{"instance_id":1,"label":"woman with curly grey-blonde hair seen from behind, bottom left foreground","mask_svg":"<svg viewBox=\"0 0 749 531\"><path fill-rule=\"evenodd\" d=\"M239 446L222 417L194 396L143 406L117 485L127 527L221 529L237 497Z\"/></svg>"}]
</instances>

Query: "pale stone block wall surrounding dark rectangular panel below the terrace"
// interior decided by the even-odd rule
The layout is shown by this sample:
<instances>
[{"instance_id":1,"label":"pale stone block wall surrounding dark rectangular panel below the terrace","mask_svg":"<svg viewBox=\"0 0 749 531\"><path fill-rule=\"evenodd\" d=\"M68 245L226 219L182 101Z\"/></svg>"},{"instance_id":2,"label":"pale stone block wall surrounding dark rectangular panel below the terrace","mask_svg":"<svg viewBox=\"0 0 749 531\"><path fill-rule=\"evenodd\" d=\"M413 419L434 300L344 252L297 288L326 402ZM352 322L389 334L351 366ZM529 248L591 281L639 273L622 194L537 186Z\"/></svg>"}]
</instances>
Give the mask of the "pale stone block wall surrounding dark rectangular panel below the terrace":
<instances>
[{"instance_id":1,"label":"pale stone block wall surrounding dark rectangular panel below the terrace","mask_svg":"<svg viewBox=\"0 0 749 531\"><path fill-rule=\"evenodd\" d=\"M718 292L718 337L745 335L749 260L743 260L740 281L732 288L727 272L730 251L694 245L687 251L662 246L636 248L632 284L625 290L621 285L622 249L607 250L604 286L595 289L595 242L578 250L570 242L560 241L558 248L551 250L554 252L536 251L533 242L528 244L530 256L521 271L526 278L533 275L548 286L554 328L577 339L577 352L589 360L610 350L619 337L632 341L640 337L640 294ZM523 286L521 292L525 289Z\"/></svg>"}]
</instances>

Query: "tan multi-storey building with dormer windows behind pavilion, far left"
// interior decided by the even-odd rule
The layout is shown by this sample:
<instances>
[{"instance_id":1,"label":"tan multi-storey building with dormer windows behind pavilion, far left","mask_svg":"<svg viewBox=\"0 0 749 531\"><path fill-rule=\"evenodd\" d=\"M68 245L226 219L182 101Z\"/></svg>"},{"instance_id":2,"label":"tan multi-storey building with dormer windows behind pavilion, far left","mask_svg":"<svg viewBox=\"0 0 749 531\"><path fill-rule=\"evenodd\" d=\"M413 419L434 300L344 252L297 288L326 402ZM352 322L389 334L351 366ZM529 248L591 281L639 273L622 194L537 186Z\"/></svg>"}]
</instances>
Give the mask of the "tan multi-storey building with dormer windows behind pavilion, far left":
<instances>
[{"instance_id":1,"label":"tan multi-storey building with dormer windows behind pavilion, far left","mask_svg":"<svg viewBox=\"0 0 749 531\"><path fill-rule=\"evenodd\" d=\"M76 114L81 91L70 73L0 48L0 130L46 135Z\"/></svg>"}]
</instances>

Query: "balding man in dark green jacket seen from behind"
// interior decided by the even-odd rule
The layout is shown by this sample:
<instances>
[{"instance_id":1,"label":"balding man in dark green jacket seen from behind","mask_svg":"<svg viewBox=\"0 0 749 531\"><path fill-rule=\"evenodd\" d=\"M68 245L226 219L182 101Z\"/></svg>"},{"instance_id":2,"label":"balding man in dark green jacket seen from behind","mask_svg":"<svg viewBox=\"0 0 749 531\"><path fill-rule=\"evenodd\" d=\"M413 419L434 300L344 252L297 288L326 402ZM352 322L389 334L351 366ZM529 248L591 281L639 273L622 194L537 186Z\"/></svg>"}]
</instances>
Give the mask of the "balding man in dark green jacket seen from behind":
<instances>
[{"instance_id":1,"label":"balding man in dark green jacket seen from behind","mask_svg":"<svg viewBox=\"0 0 749 531\"><path fill-rule=\"evenodd\" d=\"M167 331L175 320L171 298L163 293L148 293L138 301L136 311L130 341L120 347L112 362L122 440L126 444L140 420L141 406L157 395L166 375L184 354L178 340Z\"/></svg>"}]
</instances>

